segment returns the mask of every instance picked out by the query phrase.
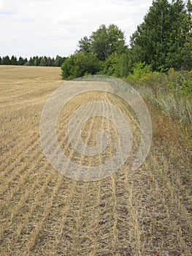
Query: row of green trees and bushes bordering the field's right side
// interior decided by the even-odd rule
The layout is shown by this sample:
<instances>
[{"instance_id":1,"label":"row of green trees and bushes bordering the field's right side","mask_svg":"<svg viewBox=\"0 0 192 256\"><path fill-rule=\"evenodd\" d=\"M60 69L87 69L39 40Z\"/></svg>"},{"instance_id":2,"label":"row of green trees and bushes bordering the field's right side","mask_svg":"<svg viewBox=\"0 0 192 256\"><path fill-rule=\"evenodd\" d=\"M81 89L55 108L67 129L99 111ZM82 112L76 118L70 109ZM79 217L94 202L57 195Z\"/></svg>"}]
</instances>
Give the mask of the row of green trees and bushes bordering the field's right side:
<instances>
[{"instance_id":1,"label":"row of green trees and bushes bordering the field's right side","mask_svg":"<svg viewBox=\"0 0 192 256\"><path fill-rule=\"evenodd\" d=\"M155 0L130 45L118 26L102 24L90 37L82 37L78 50L62 64L64 79L83 75L126 78L138 63L155 72L192 68L191 0Z\"/></svg>"}]
</instances>

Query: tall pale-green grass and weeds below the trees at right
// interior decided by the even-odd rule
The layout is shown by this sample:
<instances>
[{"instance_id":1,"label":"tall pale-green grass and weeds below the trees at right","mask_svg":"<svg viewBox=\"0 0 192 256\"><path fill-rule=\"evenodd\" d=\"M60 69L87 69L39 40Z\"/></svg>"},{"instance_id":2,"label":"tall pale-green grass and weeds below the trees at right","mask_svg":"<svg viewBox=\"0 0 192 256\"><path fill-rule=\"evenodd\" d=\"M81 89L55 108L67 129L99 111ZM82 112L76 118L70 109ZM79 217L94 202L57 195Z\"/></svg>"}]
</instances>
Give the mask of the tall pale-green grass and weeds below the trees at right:
<instances>
[{"instance_id":1,"label":"tall pale-green grass and weeds below the trees at right","mask_svg":"<svg viewBox=\"0 0 192 256\"><path fill-rule=\"evenodd\" d=\"M139 69L139 72L138 70ZM146 71L147 70L147 71ZM138 76L139 73L139 76ZM192 71L151 72L138 64L126 81L172 118L192 124Z\"/></svg>"}]
</instances>

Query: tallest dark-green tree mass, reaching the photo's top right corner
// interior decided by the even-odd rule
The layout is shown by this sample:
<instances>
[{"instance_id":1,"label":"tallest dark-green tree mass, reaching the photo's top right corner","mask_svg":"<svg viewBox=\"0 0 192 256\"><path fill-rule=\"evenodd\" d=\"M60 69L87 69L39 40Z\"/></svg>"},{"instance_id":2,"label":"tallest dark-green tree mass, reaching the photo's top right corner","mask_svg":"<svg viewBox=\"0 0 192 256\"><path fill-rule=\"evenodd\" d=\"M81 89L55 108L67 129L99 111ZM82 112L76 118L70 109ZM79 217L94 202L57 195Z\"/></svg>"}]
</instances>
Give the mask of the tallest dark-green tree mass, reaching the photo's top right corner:
<instances>
[{"instance_id":1,"label":"tallest dark-green tree mass, reaching the photo's top right corner","mask_svg":"<svg viewBox=\"0 0 192 256\"><path fill-rule=\"evenodd\" d=\"M191 1L188 1L190 10ZM152 64L153 70L189 68L191 18L182 0L153 1L144 21L131 37L133 63ZM190 57L191 58L191 57ZM188 60L188 57L186 58ZM188 62L188 61L187 61Z\"/></svg>"}]
</instances>

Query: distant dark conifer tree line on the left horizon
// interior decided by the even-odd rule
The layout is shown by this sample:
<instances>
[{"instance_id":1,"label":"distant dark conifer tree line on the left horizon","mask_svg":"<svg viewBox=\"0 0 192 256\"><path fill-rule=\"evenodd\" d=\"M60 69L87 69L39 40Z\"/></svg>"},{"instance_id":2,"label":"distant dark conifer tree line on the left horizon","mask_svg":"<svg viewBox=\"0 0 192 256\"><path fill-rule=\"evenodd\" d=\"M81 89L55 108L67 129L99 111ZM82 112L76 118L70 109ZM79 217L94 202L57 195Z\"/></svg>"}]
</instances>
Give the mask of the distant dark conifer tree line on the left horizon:
<instances>
[{"instance_id":1,"label":"distant dark conifer tree line on the left horizon","mask_svg":"<svg viewBox=\"0 0 192 256\"><path fill-rule=\"evenodd\" d=\"M18 65L18 66L42 66L42 67L61 67L61 65L66 61L66 57L56 56L55 58L50 58L47 56L34 56L27 58L16 56L0 56L1 65Z\"/></svg>"}]
</instances>

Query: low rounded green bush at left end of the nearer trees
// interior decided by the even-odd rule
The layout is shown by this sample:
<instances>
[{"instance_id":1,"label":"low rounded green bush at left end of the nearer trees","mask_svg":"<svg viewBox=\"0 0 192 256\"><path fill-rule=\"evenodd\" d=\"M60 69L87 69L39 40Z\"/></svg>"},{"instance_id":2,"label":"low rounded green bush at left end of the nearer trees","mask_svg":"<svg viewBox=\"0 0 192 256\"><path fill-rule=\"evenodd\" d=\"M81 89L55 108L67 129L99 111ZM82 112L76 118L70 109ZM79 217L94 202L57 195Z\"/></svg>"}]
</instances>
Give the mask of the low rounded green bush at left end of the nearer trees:
<instances>
[{"instance_id":1,"label":"low rounded green bush at left end of the nearer trees","mask_svg":"<svg viewBox=\"0 0 192 256\"><path fill-rule=\"evenodd\" d=\"M75 53L66 59L61 69L62 78L70 80L83 75L96 74L99 69L99 61L93 53Z\"/></svg>"}]
</instances>

